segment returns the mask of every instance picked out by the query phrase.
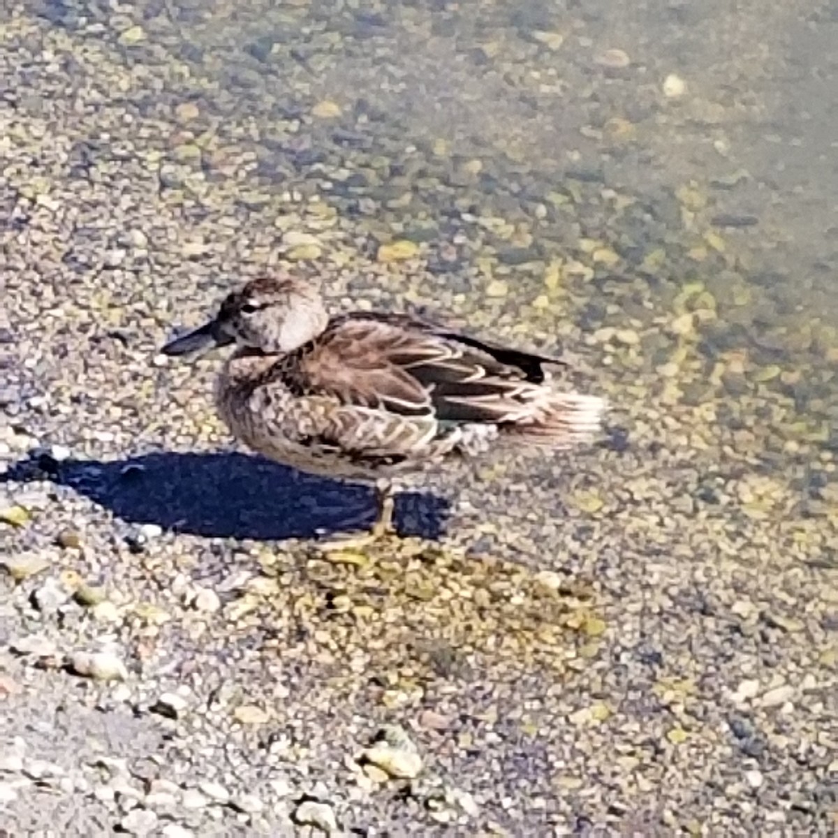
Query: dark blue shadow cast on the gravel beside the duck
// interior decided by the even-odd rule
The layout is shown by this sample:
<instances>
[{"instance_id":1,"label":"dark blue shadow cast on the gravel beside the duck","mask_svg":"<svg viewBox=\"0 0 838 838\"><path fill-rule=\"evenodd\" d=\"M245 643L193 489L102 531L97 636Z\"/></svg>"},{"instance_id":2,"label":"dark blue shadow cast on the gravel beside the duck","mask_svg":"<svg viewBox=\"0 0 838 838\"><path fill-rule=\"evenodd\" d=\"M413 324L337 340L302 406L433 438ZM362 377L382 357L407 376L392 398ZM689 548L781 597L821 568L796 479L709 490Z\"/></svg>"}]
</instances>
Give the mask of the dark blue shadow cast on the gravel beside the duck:
<instances>
[{"instance_id":1,"label":"dark blue shadow cast on the gravel beside the duck","mask_svg":"<svg viewBox=\"0 0 838 838\"><path fill-rule=\"evenodd\" d=\"M121 460L56 462L34 453L3 481L69 486L122 520L215 538L313 538L371 525L375 497L362 484L313 477L237 452L151 453ZM449 504L435 495L396 495L401 535L437 539Z\"/></svg>"}]
</instances>

